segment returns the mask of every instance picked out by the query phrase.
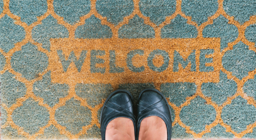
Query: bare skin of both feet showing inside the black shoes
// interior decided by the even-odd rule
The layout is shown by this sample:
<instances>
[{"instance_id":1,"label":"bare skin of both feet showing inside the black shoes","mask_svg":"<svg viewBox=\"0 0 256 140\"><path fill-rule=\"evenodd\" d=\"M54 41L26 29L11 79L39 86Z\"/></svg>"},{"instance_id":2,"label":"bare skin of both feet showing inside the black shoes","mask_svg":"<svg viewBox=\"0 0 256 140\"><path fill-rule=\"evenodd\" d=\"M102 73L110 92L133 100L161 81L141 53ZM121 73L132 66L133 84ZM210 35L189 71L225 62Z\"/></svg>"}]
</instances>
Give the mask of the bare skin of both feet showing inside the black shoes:
<instances>
[{"instance_id":1,"label":"bare skin of both feet showing inside the black shoes","mask_svg":"<svg viewBox=\"0 0 256 140\"><path fill-rule=\"evenodd\" d=\"M135 140L133 121L119 117L110 121L106 128L106 140ZM157 116L144 118L140 124L139 140L167 140L167 127Z\"/></svg>"}]
</instances>

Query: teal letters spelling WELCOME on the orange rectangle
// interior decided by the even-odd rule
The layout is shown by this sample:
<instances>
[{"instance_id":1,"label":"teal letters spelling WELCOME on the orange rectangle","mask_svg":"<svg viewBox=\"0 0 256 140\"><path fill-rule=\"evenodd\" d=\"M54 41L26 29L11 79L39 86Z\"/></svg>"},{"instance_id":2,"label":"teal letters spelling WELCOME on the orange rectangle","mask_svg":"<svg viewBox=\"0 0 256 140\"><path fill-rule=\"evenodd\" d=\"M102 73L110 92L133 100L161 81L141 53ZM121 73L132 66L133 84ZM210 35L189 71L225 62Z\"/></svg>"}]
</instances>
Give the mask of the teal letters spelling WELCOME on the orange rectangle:
<instances>
[{"instance_id":1,"label":"teal letters spelling WELCOME on the orange rectangle","mask_svg":"<svg viewBox=\"0 0 256 140\"><path fill-rule=\"evenodd\" d=\"M78 69L78 71L81 71L83 62L86 58L87 53L89 52L88 50L82 50L79 58L77 58L74 55L74 52L72 51L68 57L68 59L65 59L65 54L62 53L62 50L57 50L59 59L61 60L61 64L63 67L63 70L66 72L70 63L73 62ZM196 71L196 50L192 50L192 52L187 56L187 58L183 58L180 53L176 50L174 50L174 54L171 54L173 57L173 72L178 72L179 70L179 64L182 66L183 69L185 69L188 64L191 64L191 67L189 68L190 71ZM213 66L206 66L211 65L209 63L213 63L213 53L214 49L200 49L200 61L199 61L199 71L201 72L209 72L209 71L214 71ZM105 67L96 67L96 64L103 64L105 63L105 60L102 58L98 58L97 56L103 56L106 55L105 50L91 50L90 51L90 71L95 73L95 72L100 72L100 73L105 73L106 68ZM129 68L129 70L133 72L142 72L144 71L145 67L140 66L136 67L133 65L133 58L135 55L144 55L144 50L137 49L137 50L131 50L127 54L126 58L126 65ZM161 66L155 66L153 63L153 59L155 56L160 55L162 56L162 59L160 61L163 61L163 64ZM211 57L206 57L206 55L211 55ZM169 66L169 61L170 61L170 55L168 52L160 49L156 49L150 52L149 56L147 56L147 65L148 68L150 68L153 71L157 72L162 72L166 70ZM120 73L124 72L124 67L119 67L116 66L116 54L115 50L109 50L109 72L110 73ZM144 62L144 61L141 61Z\"/></svg>"}]
</instances>

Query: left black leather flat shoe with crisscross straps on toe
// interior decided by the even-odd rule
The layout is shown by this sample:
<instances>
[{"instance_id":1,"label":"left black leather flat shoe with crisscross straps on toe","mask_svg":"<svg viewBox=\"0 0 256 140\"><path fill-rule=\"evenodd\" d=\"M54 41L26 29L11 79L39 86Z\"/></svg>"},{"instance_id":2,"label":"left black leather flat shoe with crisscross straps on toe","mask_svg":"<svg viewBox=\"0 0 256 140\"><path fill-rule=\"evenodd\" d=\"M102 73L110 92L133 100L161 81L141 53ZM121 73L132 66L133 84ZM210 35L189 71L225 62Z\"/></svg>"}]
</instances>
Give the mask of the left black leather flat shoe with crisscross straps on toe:
<instances>
[{"instance_id":1,"label":"left black leather flat shoe with crisscross straps on toe","mask_svg":"<svg viewBox=\"0 0 256 140\"><path fill-rule=\"evenodd\" d=\"M115 90L106 99L100 114L101 139L105 140L108 123L118 117L129 118L133 121L136 134L135 116L133 113L133 96L128 90Z\"/></svg>"}]
</instances>

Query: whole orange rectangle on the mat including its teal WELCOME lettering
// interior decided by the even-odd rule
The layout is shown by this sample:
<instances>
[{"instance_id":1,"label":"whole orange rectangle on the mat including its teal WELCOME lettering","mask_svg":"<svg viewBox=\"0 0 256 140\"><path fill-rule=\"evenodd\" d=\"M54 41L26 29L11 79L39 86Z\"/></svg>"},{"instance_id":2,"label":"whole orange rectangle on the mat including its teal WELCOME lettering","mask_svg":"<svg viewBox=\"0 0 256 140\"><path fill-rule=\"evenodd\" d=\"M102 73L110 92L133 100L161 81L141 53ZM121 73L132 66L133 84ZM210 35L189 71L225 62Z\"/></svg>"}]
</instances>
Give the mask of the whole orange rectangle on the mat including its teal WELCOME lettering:
<instances>
[{"instance_id":1,"label":"whole orange rectangle on the mat including its teal WELCOME lettering","mask_svg":"<svg viewBox=\"0 0 256 140\"><path fill-rule=\"evenodd\" d=\"M217 82L219 38L51 40L49 70L58 83ZM59 78L57 78L59 77ZM150 78L149 78L150 77ZM202 80L203 79L203 80Z\"/></svg>"}]
</instances>

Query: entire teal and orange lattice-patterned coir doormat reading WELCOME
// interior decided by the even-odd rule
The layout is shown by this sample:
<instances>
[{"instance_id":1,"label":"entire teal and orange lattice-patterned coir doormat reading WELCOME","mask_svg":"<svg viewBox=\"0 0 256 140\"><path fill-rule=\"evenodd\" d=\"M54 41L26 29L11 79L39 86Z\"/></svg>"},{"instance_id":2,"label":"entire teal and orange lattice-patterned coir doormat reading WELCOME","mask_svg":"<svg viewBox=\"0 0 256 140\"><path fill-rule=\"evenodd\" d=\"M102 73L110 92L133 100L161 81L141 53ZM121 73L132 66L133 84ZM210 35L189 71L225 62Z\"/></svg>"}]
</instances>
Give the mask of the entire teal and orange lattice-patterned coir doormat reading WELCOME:
<instances>
[{"instance_id":1,"label":"entire teal and orange lattice-patterned coir doormat reading WELCOME","mask_svg":"<svg viewBox=\"0 0 256 140\"><path fill-rule=\"evenodd\" d=\"M153 87L172 138L256 138L255 0L0 0L1 139L100 139Z\"/></svg>"}]
</instances>

